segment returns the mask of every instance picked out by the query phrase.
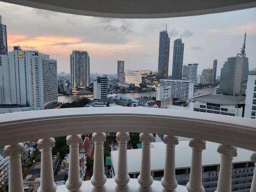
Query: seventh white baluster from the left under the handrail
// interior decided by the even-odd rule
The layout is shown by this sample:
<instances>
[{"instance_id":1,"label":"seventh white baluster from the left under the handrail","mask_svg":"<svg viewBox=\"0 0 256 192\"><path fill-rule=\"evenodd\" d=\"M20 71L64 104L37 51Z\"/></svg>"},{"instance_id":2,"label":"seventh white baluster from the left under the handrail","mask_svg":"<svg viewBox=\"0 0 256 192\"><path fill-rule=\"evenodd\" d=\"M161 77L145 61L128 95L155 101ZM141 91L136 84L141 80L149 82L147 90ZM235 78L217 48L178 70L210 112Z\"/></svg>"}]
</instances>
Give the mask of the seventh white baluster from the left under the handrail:
<instances>
[{"instance_id":1,"label":"seventh white baluster from the left under the handrail","mask_svg":"<svg viewBox=\"0 0 256 192\"><path fill-rule=\"evenodd\" d=\"M163 142L166 144L165 168L161 184L166 190L174 190L178 183L175 179L175 144L178 144L177 136L164 135Z\"/></svg>"}]
</instances>

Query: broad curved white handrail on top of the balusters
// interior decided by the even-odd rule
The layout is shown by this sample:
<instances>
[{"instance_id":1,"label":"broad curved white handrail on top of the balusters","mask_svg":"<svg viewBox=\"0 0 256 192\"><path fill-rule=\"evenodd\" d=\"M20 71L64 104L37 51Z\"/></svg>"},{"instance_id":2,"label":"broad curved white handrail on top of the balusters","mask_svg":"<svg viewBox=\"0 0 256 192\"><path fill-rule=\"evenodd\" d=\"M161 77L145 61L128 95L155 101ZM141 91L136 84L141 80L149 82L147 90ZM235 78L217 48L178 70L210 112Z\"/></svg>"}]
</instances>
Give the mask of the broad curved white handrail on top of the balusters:
<instances>
[{"instance_id":1,"label":"broad curved white handrail on top of the balusters","mask_svg":"<svg viewBox=\"0 0 256 192\"><path fill-rule=\"evenodd\" d=\"M256 121L203 112L81 107L0 114L0 146L88 132L171 134L256 150Z\"/></svg>"}]
</instances>

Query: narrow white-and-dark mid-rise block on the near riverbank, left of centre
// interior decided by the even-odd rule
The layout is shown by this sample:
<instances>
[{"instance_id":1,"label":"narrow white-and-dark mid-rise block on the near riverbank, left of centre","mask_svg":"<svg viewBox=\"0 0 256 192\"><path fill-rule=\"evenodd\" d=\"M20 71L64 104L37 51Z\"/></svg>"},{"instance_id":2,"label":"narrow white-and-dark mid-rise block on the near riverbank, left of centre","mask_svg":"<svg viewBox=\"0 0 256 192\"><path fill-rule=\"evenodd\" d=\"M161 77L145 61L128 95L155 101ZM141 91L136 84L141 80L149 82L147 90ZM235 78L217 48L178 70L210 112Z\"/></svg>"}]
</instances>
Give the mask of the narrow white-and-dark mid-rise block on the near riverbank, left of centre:
<instances>
[{"instance_id":1,"label":"narrow white-and-dark mid-rise block on the near riverbank, left of centre","mask_svg":"<svg viewBox=\"0 0 256 192\"><path fill-rule=\"evenodd\" d=\"M93 106L107 106L107 76L98 76L93 81Z\"/></svg>"}]
</instances>

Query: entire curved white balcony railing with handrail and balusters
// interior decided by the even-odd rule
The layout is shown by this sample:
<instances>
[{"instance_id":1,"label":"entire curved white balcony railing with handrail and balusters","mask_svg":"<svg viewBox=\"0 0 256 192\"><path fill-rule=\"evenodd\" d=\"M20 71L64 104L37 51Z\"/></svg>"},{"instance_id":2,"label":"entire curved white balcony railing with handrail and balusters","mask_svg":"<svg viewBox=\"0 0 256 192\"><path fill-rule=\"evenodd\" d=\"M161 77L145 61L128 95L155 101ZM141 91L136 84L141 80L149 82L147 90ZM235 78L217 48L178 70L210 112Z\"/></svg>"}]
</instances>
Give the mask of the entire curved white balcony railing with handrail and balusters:
<instances>
[{"instance_id":1,"label":"entire curved white balcony railing with handrail and balusters","mask_svg":"<svg viewBox=\"0 0 256 192\"><path fill-rule=\"evenodd\" d=\"M90 181L79 177L78 147L81 137L78 134L94 132L94 164ZM104 175L103 142L104 132L117 132L118 168L114 179ZM142 155L140 174L130 179L127 174L128 132L140 132ZM151 133L164 134L166 144L165 168L161 181L151 176L150 142ZM69 145L70 162L68 179L65 185L56 186L53 182L51 148L55 136L66 137ZM192 150L189 182L186 186L177 185L175 179L176 136L191 137ZM232 158L236 147L256 150L256 122L254 119L206 114L172 109L102 107L68 108L26 111L0 114L0 146L5 145L4 153L9 160L9 191L23 191L20 156L27 140L38 140L41 149L40 187L38 191L204 191L202 186L202 151L205 140L221 143L216 149L220 154L220 169L217 192L231 191ZM249 159L248 159L249 160ZM256 153L251 155L256 162ZM250 191L256 191L256 169Z\"/></svg>"}]
</instances>

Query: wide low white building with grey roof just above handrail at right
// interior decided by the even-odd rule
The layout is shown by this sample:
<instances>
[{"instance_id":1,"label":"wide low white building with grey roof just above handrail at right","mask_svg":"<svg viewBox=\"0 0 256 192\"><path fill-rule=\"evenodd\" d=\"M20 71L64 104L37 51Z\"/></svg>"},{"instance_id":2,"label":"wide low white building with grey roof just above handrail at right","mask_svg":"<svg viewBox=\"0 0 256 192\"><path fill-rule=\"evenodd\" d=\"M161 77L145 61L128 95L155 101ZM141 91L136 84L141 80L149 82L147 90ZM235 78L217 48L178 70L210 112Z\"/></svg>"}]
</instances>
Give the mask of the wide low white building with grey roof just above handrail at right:
<instances>
[{"instance_id":1,"label":"wide low white building with grey roof just above handrail at right","mask_svg":"<svg viewBox=\"0 0 256 192\"><path fill-rule=\"evenodd\" d=\"M190 110L243 116L245 96L230 96L220 94L203 94L194 96L190 100Z\"/></svg>"}]
</instances>

